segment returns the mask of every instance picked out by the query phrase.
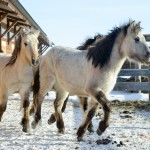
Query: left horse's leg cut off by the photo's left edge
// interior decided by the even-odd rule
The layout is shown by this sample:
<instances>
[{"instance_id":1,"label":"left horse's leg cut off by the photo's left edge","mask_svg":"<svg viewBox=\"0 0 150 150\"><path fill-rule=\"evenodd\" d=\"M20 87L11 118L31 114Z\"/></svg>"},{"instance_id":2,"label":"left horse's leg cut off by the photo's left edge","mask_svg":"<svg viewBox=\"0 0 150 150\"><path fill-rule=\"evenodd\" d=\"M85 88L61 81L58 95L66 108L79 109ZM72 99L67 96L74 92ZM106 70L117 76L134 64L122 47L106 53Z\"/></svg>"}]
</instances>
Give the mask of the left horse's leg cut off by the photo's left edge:
<instances>
[{"instance_id":1,"label":"left horse's leg cut off by the photo's left edge","mask_svg":"<svg viewBox=\"0 0 150 150\"><path fill-rule=\"evenodd\" d=\"M7 96L0 96L0 121L7 107Z\"/></svg>"}]
</instances>

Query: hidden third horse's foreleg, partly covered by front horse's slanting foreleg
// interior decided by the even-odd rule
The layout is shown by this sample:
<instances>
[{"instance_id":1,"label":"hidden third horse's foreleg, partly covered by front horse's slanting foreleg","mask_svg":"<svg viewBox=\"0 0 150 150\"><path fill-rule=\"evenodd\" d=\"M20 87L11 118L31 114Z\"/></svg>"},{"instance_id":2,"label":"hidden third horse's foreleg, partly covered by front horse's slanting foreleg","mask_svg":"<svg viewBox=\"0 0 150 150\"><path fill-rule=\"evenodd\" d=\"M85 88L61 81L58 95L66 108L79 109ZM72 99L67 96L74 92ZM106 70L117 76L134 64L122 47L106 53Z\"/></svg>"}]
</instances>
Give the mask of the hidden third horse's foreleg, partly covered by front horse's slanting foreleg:
<instances>
[{"instance_id":1,"label":"hidden third horse's foreleg, partly covered by front horse's slanting foreleg","mask_svg":"<svg viewBox=\"0 0 150 150\"><path fill-rule=\"evenodd\" d=\"M80 99L80 107L82 108L83 114L86 114L86 111L88 110L88 97L79 97ZM90 122L90 124L88 125L88 131L89 132L93 132L93 124L92 124L92 120Z\"/></svg>"}]
</instances>

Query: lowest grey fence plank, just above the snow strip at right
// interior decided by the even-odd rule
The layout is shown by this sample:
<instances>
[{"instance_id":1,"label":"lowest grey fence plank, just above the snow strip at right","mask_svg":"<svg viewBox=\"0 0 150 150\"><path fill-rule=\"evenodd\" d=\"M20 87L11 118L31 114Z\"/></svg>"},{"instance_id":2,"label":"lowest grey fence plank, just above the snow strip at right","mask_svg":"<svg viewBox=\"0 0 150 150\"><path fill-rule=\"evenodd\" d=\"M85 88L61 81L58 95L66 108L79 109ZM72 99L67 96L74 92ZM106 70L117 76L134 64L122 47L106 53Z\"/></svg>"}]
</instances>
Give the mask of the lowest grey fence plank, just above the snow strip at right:
<instances>
[{"instance_id":1,"label":"lowest grey fence plank, just above the snow strip at right","mask_svg":"<svg viewBox=\"0 0 150 150\"><path fill-rule=\"evenodd\" d=\"M117 82L114 91L150 91L149 82Z\"/></svg>"}]
</instances>

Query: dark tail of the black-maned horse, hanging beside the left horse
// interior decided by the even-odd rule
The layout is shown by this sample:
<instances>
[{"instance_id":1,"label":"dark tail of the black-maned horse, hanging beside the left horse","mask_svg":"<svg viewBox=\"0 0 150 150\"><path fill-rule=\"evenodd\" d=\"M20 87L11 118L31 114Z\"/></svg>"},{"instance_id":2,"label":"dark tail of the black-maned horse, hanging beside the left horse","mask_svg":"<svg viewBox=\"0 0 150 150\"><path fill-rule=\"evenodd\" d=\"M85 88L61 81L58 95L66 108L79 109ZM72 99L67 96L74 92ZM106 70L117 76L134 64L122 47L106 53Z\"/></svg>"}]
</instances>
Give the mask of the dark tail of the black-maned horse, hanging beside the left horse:
<instances>
[{"instance_id":1,"label":"dark tail of the black-maned horse, hanging beside the left horse","mask_svg":"<svg viewBox=\"0 0 150 150\"><path fill-rule=\"evenodd\" d=\"M32 103L32 106L31 106L31 109L30 109L30 115L34 114L35 112L35 109L36 109L36 106L37 106L37 94L39 92L39 89L40 89L40 75L39 75L39 66L38 66L38 69L37 71L35 72L35 75L34 75L34 84L32 86L32 90L33 90L33 103Z\"/></svg>"}]
</instances>

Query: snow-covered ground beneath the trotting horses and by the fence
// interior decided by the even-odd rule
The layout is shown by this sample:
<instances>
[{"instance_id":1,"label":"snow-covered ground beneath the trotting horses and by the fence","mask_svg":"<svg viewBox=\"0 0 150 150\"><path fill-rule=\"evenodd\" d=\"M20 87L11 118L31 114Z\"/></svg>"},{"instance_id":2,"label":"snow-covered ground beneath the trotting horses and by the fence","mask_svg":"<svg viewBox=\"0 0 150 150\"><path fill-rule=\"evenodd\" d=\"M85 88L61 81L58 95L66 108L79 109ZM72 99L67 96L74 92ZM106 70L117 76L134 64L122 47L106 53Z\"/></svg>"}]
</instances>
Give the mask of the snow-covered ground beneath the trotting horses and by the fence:
<instances>
[{"instance_id":1,"label":"snow-covered ground beneath the trotting horses and by the fence","mask_svg":"<svg viewBox=\"0 0 150 150\"><path fill-rule=\"evenodd\" d=\"M55 93L46 96L42 106L42 126L30 133L23 133L19 122L20 101L17 94L9 97L8 107L0 123L0 150L149 150L150 149L150 112L113 108L110 127L101 135L96 132L85 134L84 142L77 142L76 132L83 117L76 97L70 97L65 113L65 134L57 133L56 125L48 125L47 120L53 112ZM111 100L148 100L147 94L112 92ZM93 118L95 131L102 111ZM31 120L32 121L32 117Z\"/></svg>"}]
</instances>

